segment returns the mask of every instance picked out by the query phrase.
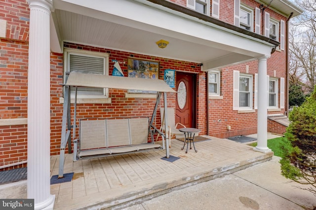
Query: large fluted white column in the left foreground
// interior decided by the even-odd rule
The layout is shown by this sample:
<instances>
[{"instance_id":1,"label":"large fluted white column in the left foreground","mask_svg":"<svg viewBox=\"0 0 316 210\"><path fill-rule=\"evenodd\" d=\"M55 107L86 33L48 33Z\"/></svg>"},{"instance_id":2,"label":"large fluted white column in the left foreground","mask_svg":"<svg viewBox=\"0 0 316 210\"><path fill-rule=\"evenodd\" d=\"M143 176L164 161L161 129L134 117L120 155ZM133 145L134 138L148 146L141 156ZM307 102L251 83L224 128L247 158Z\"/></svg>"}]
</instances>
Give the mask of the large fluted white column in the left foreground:
<instances>
[{"instance_id":1,"label":"large fluted white column in the left foreground","mask_svg":"<svg viewBox=\"0 0 316 210\"><path fill-rule=\"evenodd\" d=\"M53 209L50 194L50 37L51 0L28 0L28 198L35 210Z\"/></svg>"}]
</instances>

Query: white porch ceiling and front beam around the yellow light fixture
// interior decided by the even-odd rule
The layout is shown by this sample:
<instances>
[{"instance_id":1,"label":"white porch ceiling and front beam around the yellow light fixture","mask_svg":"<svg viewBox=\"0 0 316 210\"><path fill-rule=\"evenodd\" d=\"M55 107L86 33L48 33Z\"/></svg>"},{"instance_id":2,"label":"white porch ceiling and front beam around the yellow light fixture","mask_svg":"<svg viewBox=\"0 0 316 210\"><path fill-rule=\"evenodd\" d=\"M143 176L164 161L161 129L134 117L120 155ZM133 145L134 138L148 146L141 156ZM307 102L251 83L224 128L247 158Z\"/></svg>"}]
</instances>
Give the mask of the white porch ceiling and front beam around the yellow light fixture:
<instances>
[{"instance_id":1,"label":"white porch ceiling and front beam around the yellow light fixture","mask_svg":"<svg viewBox=\"0 0 316 210\"><path fill-rule=\"evenodd\" d=\"M51 50L72 42L203 63L203 70L270 56L271 43L139 1L53 0Z\"/></svg>"}]
</instances>

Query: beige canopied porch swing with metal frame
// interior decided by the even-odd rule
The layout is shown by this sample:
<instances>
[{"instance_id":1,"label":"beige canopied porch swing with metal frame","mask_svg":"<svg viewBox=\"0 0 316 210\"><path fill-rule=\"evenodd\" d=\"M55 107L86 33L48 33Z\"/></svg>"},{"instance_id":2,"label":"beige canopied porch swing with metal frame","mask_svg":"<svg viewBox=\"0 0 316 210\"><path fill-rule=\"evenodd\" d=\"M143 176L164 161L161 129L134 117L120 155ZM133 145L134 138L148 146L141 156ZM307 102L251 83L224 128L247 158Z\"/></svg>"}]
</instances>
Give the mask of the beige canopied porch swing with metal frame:
<instances>
[{"instance_id":1,"label":"beige canopied porch swing with metal frame","mask_svg":"<svg viewBox=\"0 0 316 210\"><path fill-rule=\"evenodd\" d=\"M166 135L168 124L161 131L156 127L157 110L160 105L160 97L163 93L163 106L167 107L167 92L176 92L163 80L149 80L141 78L129 78L107 76L97 74L83 74L71 72L66 76L62 133L60 142L59 172L58 178L64 176L65 148L68 143L68 151L71 153L71 128L73 127L74 161L84 158L103 157L127 153L143 152L149 150L166 150L166 158L169 158L169 137ZM71 123L71 94L70 88L75 87L74 117ZM157 98L152 118L88 118L79 120L79 138L76 139L76 115L77 115L77 88L111 88L122 90L148 90L156 91ZM167 109L166 109L167 110ZM167 119L167 111L164 119ZM162 146L155 144L154 134L161 135ZM148 141L150 137L151 141Z\"/></svg>"}]
</instances>

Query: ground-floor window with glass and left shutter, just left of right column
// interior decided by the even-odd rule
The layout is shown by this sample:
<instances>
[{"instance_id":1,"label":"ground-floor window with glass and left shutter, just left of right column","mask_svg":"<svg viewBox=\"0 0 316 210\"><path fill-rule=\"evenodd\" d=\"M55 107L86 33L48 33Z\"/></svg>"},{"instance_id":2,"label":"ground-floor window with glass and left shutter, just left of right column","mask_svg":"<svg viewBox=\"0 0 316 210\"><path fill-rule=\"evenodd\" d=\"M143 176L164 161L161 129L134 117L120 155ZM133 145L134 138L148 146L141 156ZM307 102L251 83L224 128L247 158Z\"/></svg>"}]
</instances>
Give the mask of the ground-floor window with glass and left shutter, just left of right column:
<instances>
[{"instance_id":1,"label":"ground-floor window with glass and left shutter, just left of right column","mask_svg":"<svg viewBox=\"0 0 316 210\"><path fill-rule=\"evenodd\" d=\"M251 74L234 71L233 110L252 110L252 78Z\"/></svg>"}]
</instances>

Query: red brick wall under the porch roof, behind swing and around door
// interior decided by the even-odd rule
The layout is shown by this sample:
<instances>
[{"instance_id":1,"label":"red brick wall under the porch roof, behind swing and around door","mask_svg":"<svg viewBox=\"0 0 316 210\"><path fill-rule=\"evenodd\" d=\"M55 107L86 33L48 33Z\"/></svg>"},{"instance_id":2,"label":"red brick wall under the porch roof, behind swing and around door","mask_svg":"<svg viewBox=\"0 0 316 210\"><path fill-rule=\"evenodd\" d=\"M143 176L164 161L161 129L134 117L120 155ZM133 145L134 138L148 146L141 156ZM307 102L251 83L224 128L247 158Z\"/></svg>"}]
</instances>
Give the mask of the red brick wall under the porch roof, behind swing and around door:
<instances>
[{"instance_id":1,"label":"red brick wall under the porch roof, behind swing and around door","mask_svg":"<svg viewBox=\"0 0 316 210\"><path fill-rule=\"evenodd\" d=\"M109 54L109 74L112 75L114 68L114 62L111 60L118 60L125 62L120 64L120 67L127 76L127 60L128 58L137 58L143 60L155 60L159 62L159 78L163 79L164 69L175 69L176 71L189 71L197 73L197 83L201 85L197 90L197 104L200 107L204 107L205 111L205 75L206 73L201 72L198 63L186 62L180 60L170 60L164 58L157 58L146 55L139 55L134 53L116 51L111 49L97 48L79 44L65 43L65 47L71 49L80 49L85 51L103 52ZM61 138L61 122L63 105L59 103L59 98L63 97L63 89L59 84L63 83L63 54L51 54L51 154L58 154L60 148ZM204 88L203 88L204 87ZM132 116L152 116L156 98L126 98L125 92L127 90L109 90L109 97L112 99L110 104L78 104L77 105L77 120L81 118L97 117L97 118L109 118L109 117L132 117ZM202 91L202 92L201 92ZM168 106L175 107L176 94L168 93ZM73 107L72 107L73 112ZM199 112L199 111L198 111ZM73 113L72 113L73 114ZM157 124L160 124L159 112L158 118L156 119ZM201 119L201 118L200 118ZM206 122L201 119L198 122L198 128L204 133L206 132ZM78 122L77 122L78 124ZM160 127L160 126L158 126ZM78 136L78 133L77 133ZM68 150L68 149L66 149Z\"/></svg>"}]
</instances>

